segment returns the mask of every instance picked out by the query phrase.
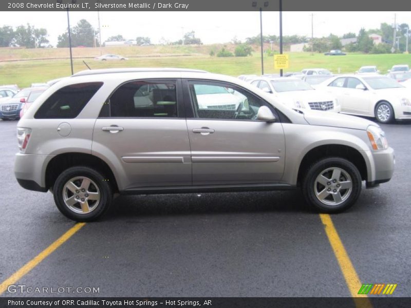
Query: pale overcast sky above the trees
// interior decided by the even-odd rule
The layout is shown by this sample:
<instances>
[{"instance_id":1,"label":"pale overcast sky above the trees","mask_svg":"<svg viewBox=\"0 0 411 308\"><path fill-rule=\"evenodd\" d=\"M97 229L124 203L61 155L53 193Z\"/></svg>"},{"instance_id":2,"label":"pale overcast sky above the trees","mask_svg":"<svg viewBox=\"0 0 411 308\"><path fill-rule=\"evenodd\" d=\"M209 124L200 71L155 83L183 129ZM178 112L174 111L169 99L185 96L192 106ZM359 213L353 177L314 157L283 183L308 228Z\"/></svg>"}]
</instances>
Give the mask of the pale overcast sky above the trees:
<instances>
[{"instance_id":1,"label":"pale overcast sky above the trees","mask_svg":"<svg viewBox=\"0 0 411 308\"><path fill-rule=\"evenodd\" d=\"M283 35L311 37L311 13L313 13L314 37L330 33L342 35L358 33L365 29L379 28L381 23L411 25L411 12L283 12ZM5 12L1 13L0 26L19 26L29 23L36 28L46 28L48 40L57 44L57 37L67 28L67 13L62 12ZM263 11L263 34L279 34L279 13ZM70 26L86 19L98 28L97 12L70 12ZM195 31L203 44L227 43L234 36L240 41L260 32L259 12L100 12L102 41L121 34L127 40L148 36L152 43L162 37L178 41L183 33Z\"/></svg>"}]
</instances>

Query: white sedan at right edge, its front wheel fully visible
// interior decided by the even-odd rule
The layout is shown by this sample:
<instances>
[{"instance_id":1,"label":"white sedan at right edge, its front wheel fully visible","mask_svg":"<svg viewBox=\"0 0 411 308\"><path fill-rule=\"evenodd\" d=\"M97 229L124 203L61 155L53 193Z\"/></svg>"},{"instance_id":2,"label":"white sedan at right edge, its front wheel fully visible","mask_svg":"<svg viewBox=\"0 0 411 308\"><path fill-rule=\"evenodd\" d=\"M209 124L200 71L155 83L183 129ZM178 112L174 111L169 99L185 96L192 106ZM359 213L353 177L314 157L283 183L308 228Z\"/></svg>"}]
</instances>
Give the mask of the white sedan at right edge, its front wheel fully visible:
<instances>
[{"instance_id":1,"label":"white sedan at right edge, its front wheel fully visible","mask_svg":"<svg viewBox=\"0 0 411 308\"><path fill-rule=\"evenodd\" d=\"M411 119L411 90L381 75L339 75L319 85L337 97L341 112L376 118L381 123Z\"/></svg>"}]
</instances>

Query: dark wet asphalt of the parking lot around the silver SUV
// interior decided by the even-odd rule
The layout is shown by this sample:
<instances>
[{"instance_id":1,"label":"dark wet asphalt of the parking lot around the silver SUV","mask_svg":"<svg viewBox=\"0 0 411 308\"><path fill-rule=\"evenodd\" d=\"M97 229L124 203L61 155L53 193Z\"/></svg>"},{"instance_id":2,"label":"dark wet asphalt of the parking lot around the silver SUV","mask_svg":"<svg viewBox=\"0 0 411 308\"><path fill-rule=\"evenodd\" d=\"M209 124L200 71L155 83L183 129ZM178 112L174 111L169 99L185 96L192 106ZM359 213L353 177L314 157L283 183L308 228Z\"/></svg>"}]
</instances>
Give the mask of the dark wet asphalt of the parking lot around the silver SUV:
<instances>
[{"instance_id":1,"label":"dark wet asphalt of the parking lot around the silver SUV","mask_svg":"<svg viewBox=\"0 0 411 308\"><path fill-rule=\"evenodd\" d=\"M16 123L0 121L0 283L74 226L50 193L17 184ZM361 283L396 283L391 296L409 297L411 123L382 127L396 151L393 179L331 219ZM80 296L351 296L324 224L299 191L121 196L16 283L99 287Z\"/></svg>"}]
</instances>

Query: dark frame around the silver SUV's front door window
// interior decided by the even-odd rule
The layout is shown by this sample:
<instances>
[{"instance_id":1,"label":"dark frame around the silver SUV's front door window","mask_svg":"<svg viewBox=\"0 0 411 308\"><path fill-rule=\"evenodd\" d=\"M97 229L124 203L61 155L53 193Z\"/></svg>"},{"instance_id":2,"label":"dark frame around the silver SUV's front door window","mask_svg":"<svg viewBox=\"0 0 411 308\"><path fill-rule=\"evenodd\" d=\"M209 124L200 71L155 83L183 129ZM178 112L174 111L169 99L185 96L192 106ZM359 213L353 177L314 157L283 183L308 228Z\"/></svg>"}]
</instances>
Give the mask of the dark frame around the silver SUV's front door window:
<instances>
[{"instance_id":1,"label":"dark frame around the silver SUV's front door window","mask_svg":"<svg viewBox=\"0 0 411 308\"><path fill-rule=\"evenodd\" d=\"M190 120L210 120L210 121L251 121L251 122L258 122L258 120L237 120L237 119L208 119L208 118L196 118L195 117L195 112L194 112L194 102L192 102L191 99L191 94L190 94L190 82L198 82L198 83L208 83L208 84L222 84L222 85L231 85L233 87L237 87L251 95L254 95L254 97L258 98L264 106L267 106L270 108L271 112L275 115L275 117L278 119L278 123L281 123L281 117L279 117L277 110L269 104L266 100L261 98L259 95L257 95L254 92L251 92L248 89L245 89L237 84L233 84L230 82L225 82L225 81L219 81L219 80L210 80L210 79L182 79L182 87L183 87L183 99L184 99L184 106L185 106L185 114L186 114L186 119Z\"/></svg>"}]
</instances>

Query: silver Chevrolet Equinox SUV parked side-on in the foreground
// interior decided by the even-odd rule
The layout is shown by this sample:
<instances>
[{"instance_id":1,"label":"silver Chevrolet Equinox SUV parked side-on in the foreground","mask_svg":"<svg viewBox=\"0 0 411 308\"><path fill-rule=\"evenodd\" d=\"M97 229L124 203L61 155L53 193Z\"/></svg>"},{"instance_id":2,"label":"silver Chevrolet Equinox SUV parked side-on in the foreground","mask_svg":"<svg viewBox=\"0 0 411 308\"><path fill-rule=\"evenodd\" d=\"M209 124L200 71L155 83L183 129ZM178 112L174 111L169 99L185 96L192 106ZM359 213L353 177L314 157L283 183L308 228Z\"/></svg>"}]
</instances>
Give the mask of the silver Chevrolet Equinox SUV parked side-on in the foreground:
<instances>
[{"instance_id":1,"label":"silver Chevrolet Equinox SUV parked side-on in the foreground","mask_svg":"<svg viewBox=\"0 0 411 308\"><path fill-rule=\"evenodd\" d=\"M387 182L394 150L370 121L293 110L236 78L197 70L108 69L48 88L17 125L14 166L76 221L113 195L294 189L335 213Z\"/></svg>"}]
</instances>

